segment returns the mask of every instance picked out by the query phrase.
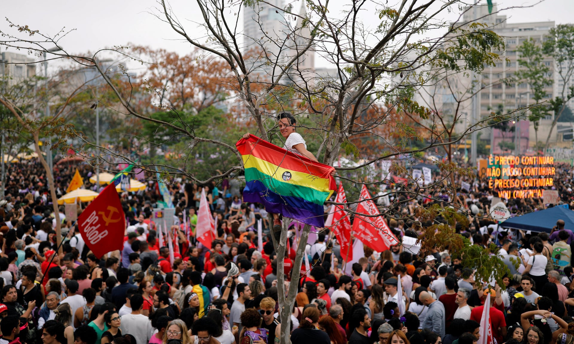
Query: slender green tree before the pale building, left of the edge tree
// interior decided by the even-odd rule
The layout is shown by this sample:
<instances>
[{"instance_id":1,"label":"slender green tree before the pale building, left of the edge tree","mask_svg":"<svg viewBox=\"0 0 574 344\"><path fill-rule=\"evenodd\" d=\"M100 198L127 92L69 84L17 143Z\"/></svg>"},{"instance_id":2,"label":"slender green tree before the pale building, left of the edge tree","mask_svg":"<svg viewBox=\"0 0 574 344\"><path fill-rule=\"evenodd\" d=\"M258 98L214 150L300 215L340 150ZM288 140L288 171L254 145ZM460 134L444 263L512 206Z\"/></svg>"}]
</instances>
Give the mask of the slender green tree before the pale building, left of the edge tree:
<instances>
[{"instance_id":1,"label":"slender green tree before the pale building, left of the edge tree","mask_svg":"<svg viewBox=\"0 0 574 344\"><path fill-rule=\"evenodd\" d=\"M539 104L546 97L545 88L552 85L552 80L547 77L550 68L544 64L542 47L533 38L530 38L518 46L517 50L520 54L517 61L523 68L518 69L516 79L528 84L534 103ZM549 115L549 111L546 105L530 107L528 120L534 124L535 142L538 142L540 119L547 115Z\"/></svg>"}]
</instances>

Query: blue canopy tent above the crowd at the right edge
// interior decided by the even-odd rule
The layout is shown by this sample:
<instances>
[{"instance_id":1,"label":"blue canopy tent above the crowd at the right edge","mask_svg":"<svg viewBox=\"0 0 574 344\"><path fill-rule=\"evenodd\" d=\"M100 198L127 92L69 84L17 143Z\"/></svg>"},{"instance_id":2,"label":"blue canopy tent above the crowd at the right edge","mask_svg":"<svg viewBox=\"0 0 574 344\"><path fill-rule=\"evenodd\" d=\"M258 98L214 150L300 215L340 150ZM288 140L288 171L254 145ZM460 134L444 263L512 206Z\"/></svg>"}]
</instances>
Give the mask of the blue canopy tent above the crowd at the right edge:
<instances>
[{"instance_id":1,"label":"blue canopy tent above the crowd at the right edge","mask_svg":"<svg viewBox=\"0 0 574 344\"><path fill-rule=\"evenodd\" d=\"M574 211L554 206L553 208L532 212L521 216L511 217L502 222L502 228L532 230L533 232L550 233L556 221L564 220L565 229L574 230Z\"/></svg>"}]
</instances>

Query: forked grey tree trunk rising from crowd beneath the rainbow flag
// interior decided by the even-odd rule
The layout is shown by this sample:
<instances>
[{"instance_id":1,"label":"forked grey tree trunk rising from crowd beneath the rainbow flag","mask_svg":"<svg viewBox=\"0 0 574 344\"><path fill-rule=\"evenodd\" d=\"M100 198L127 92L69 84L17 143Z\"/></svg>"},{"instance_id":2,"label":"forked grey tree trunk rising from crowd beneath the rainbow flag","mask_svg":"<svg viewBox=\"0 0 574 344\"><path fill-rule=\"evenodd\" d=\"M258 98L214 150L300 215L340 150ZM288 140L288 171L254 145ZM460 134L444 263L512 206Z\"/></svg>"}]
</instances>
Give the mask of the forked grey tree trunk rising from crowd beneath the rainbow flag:
<instances>
[{"instance_id":1,"label":"forked grey tree trunk rising from crowd beneath the rainbow flag","mask_svg":"<svg viewBox=\"0 0 574 344\"><path fill-rule=\"evenodd\" d=\"M292 268L292 279L289 283L289 292L285 298L285 254L289 255L289 252L285 252L287 248L287 230L289 226L290 219L283 218L283 230L281 230L280 243L275 241L275 237L272 235L273 245L275 246L275 252L277 253L277 295L279 302L279 314L281 316L281 344L291 344L290 339L290 328L291 328L291 314L293 313L293 305L295 303L295 296L297 295L299 276L301 275L301 263L303 261L303 254L305 252L305 246L307 245L307 238L309 236L309 228L311 226L305 225L301 232L301 239L297 245L297 255L295 261L293 262ZM273 221L271 222L273 224Z\"/></svg>"}]
</instances>

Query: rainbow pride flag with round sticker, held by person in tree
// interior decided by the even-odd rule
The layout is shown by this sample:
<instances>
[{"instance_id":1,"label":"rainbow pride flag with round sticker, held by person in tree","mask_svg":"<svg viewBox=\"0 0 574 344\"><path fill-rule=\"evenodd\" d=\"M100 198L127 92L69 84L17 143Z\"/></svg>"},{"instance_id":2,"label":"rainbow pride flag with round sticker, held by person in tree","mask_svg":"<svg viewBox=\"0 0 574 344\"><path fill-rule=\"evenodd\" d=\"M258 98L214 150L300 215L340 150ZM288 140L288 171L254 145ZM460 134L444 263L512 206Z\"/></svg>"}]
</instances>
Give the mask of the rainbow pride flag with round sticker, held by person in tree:
<instances>
[{"instance_id":1,"label":"rainbow pride flag with round sticker, held by person in tree","mask_svg":"<svg viewBox=\"0 0 574 344\"><path fill-rule=\"evenodd\" d=\"M244 202L258 202L270 213L323 227L323 204L336 189L333 167L284 150L251 135L235 146L243 158Z\"/></svg>"}]
</instances>

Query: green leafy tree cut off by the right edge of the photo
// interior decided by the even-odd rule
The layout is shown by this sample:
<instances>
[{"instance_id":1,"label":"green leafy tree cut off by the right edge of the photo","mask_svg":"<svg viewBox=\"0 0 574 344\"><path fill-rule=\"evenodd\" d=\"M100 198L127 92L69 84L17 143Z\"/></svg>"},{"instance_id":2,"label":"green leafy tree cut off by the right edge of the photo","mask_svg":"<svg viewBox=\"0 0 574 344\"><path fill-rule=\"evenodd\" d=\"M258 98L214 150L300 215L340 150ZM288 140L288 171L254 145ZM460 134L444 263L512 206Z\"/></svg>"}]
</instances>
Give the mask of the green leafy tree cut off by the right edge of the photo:
<instances>
[{"instance_id":1,"label":"green leafy tree cut off by the right edge of the photo","mask_svg":"<svg viewBox=\"0 0 574 344\"><path fill-rule=\"evenodd\" d=\"M543 51L554 58L554 73L558 73L561 84L558 87L558 95L549 101L550 110L554 111L554 120L544 145L546 151L556 122L568 107L568 101L574 97L574 86L568 87L574 74L574 26L559 24L550 29L550 37L544 42Z\"/></svg>"}]
</instances>

